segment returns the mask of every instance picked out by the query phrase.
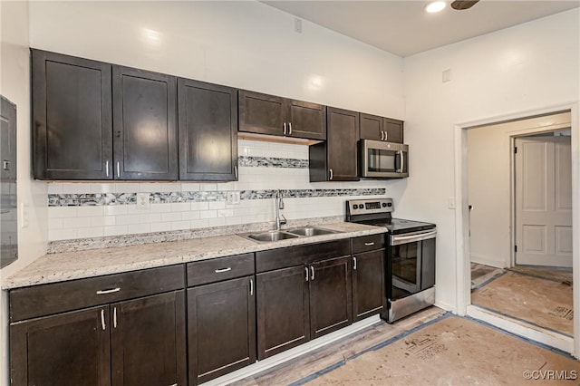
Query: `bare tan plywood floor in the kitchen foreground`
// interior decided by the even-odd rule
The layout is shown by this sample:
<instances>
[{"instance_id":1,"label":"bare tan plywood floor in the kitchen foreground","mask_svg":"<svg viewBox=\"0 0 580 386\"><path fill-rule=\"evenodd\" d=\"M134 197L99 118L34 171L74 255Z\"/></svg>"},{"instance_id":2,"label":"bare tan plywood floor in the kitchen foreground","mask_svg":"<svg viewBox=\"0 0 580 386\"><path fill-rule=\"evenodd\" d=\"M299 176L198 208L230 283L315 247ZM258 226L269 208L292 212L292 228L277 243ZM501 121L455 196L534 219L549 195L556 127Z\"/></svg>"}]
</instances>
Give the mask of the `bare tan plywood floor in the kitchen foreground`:
<instances>
[{"instance_id":1,"label":"bare tan plywood floor in the kitchen foreground","mask_svg":"<svg viewBox=\"0 0 580 386\"><path fill-rule=\"evenodd\" d=\"M527 381L525 372L539 380ZM580 362L482 323L449 316L336 363L308 385L577 385ZM541 377L544 377L542 379Z\"/></svg>"}]
</instances>

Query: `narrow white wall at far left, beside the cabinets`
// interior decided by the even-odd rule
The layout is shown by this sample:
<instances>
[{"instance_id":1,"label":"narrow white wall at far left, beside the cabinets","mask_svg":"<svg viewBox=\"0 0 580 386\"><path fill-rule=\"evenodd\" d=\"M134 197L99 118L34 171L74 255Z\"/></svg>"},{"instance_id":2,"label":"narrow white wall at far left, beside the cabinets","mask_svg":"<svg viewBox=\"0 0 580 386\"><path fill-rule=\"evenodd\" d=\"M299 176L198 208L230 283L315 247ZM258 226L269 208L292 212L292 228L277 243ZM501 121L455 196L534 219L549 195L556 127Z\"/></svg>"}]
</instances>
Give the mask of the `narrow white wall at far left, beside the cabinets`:
<instances>
[{"instance_id":1,"label":"narrow white wall at far left, beside the cabinets","mask_svg":"<svg viewBox=\"0 0 580 386\"><path fill-rule=\"evenodd\" d=\"M16 270L42 256L47 243L46 186L31 178L30 168L30 70L28 51L28 2L0 2L2 37L0 46L0 93L16 104L17 108L17 192L18 207L29 208L29 226L18 229L18 260L0 271L0 276L11 275ZM22 226L21 218L18 218ZM9 384L7 366L8 304L2 292L0 314L0 384Z\"/></svg>"}]
</instances>

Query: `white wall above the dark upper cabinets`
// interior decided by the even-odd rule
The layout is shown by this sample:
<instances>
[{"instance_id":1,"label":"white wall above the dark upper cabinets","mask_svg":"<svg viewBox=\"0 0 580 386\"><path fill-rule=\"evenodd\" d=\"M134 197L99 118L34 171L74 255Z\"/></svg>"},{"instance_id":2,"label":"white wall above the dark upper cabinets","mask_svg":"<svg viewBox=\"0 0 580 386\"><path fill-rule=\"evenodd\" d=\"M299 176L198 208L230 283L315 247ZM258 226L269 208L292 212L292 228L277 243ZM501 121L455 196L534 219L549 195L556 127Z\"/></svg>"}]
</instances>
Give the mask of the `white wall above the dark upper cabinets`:
<instances>
[{"instance_id":1,"label":"white wall above the dark upper cabinets","mask_svg":"<svg viewBox=\"0 0 580 386\"><path fill-rule=\"evenodd\" d=\"M404 118L400 57L258 2L33 2L30 43Z\"/></svg>"}]
</instances>

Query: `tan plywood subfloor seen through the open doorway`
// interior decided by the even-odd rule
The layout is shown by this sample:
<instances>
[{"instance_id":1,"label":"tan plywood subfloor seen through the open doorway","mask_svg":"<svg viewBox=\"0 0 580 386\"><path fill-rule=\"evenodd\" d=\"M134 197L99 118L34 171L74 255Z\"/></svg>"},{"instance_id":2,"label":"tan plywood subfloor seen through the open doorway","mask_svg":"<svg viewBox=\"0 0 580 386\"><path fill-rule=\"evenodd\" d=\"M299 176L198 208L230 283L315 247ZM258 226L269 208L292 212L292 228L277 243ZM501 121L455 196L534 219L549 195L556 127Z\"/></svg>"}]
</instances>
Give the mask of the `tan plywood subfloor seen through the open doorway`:
<instances>
[{"instance_id":1,"label":"tan plywood subfloor seen through the open doorway","mask_svg":"<svg viewBox=\"0 0 580 386\"><path fill-rule=\"evenodd\" d=\"M471 304L573 335L572 286L506 272L471 293Z\"/></svg>"}]
</instances>

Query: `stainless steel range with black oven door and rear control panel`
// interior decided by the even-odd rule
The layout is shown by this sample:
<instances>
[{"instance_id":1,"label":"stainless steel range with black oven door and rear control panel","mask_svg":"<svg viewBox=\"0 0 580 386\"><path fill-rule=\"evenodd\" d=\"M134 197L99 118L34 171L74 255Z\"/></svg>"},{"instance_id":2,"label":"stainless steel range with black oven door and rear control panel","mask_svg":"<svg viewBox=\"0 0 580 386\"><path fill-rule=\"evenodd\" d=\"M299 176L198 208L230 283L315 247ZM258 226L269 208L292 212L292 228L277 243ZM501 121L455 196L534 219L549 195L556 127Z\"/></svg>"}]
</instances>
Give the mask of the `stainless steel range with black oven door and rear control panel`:
<instances>
[{"instance_id":1,"label":"stainless steel range with black oven door and rear control panel","mask_svg":"<svg viewBox=\"0 0 580 386\"><path fill-rule=\"evenodd\" d=\"M392 218L392 198L346 202L346 221L387 228L385 283L389 323L435 303L435 224Z\"/></svg>"}]
</instances>

